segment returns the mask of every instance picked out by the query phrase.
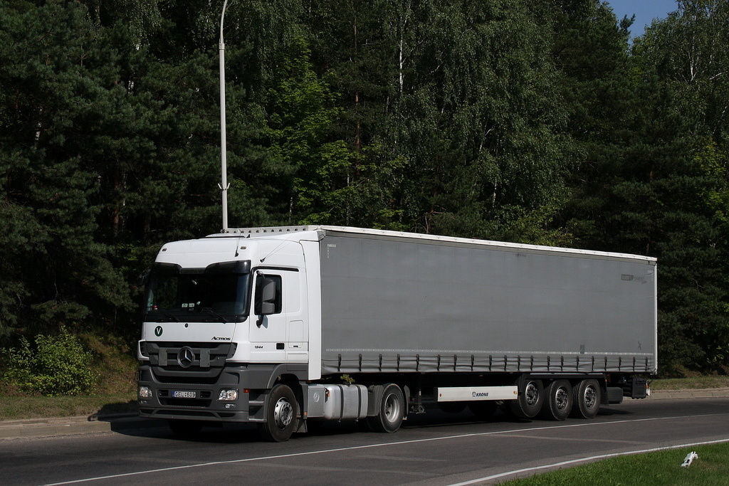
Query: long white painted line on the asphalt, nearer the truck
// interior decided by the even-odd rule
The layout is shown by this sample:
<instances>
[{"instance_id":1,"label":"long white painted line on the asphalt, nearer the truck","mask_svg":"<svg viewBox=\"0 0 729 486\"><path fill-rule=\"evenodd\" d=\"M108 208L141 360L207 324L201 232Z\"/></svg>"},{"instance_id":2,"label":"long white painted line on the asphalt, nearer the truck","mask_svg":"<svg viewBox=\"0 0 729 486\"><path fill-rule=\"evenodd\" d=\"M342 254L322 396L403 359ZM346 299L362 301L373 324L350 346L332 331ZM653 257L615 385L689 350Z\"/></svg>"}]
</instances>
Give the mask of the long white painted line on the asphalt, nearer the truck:
<instances>
[{"instance_id":1,"label":"long white painted line on the asphalt, nearer the truck","mask_svg":"<svg viewBox=\"0 0 729 486\"><path fill-rule=\"evenodd\" d=\"M293 452L292 454L268 455L268 456L262 456L260 458L216 460L216 461L212 461L209 463L187 464L186 466L171 466L168 468L147 469L146 471L135 471L135 472L122 473L122 474L110 474L109 476L88 477L88 478L83 478L83 479L73 479L71 481L52 482L45 486L74 485L74 484L78 484L81 482L101 481L102 479L115 479L115 478L120 478L120 477L139 476L141 474L153 474L153 473L157 473L157 472L177 471L179 469L190 469L190 468L197 468L197 467L202 467L202 466L220 466L222 464L247 463L247 462L252 462L255 460L295 458L295 457L300 457L300 456L304 456L304 455L326 454L328 452L343 452L346 450L371 449L373 447L387 447L387 446L391 446L391 445L417 444L420 442L434 442L434 441L439 441L439 440L464 439L466 437L481 437L481 436L493 436L493 435L502 435L502 434L520 434L520 433L523 434L524 432L529 432L529 431L544 431L544 430L552 430L552 429L557 429L557 428L569 428L569 427L606 426L606 425L615 425L617 423L650 422L652 420L676 420L676 419L685 420L687 418L712 417L714 415L727 415L727 414L725 414L725 413L706 413L706 414L701 414L701 415L677 415L676 417L654 417L654 418L636 418L636 419L632 419L632 420L614 420L612 422L571 423L569 425L561 425L561 426L520 428L517 430L510 430L510 431L478 432L475 434L461 434L461 435L455 435L455 436L430 437L428 439L413 439L413 440L405 440L405 441L400 441L400 442L384 442L381 444L357 445L357 446L353 446L353 447L340 447L338 449L311 450L308 452ZM478 479L477 479L477 481L478 481Z\"/></svg>"}]
</instances>

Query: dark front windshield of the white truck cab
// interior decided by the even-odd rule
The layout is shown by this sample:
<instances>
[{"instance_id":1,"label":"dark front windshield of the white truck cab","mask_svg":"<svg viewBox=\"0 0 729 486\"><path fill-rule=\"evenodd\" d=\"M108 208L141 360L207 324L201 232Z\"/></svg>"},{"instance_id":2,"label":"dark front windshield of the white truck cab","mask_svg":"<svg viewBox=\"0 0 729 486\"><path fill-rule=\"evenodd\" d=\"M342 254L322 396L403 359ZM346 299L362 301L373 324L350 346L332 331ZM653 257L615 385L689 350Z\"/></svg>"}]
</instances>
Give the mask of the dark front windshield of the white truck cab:
<instances>
[{"instance_id":1,"label":"dark front windshield of the white truck cab","mask_svg":"<svg viewBox=\"0 0 729 486\"><path fill-rule=\"evenodd\" d=\"M152 270L144 300L146 321L232 322L247 315L249 274Z\"/></svg>"}]
</instances>

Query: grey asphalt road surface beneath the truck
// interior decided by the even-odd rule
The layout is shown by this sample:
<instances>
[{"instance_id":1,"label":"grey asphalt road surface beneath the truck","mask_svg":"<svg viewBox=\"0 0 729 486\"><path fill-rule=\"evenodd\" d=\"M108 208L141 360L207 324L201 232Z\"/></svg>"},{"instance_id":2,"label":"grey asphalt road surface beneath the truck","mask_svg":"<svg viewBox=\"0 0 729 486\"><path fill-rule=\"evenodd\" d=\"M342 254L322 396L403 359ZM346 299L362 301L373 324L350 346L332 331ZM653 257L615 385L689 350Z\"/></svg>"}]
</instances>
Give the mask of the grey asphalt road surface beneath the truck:
<instances>
[{"instance_id":1,"label":"grey asphalt road surface beneath the truck","mask_svg":"<svg viewBox=\"0 0 729 486\"><path fill-rule=\"evenodd\" d=\"M565 422L501 414L477 422L467 412L432 412L411 416L397 434L350 425L281 444L259 442L249 426L207 428L192 441L159 427L5 439L0 483L491 484L590 458L713 441L729 442L727 398L629 400L604 407L594 420Z\"/></svg>"}]
</instances>

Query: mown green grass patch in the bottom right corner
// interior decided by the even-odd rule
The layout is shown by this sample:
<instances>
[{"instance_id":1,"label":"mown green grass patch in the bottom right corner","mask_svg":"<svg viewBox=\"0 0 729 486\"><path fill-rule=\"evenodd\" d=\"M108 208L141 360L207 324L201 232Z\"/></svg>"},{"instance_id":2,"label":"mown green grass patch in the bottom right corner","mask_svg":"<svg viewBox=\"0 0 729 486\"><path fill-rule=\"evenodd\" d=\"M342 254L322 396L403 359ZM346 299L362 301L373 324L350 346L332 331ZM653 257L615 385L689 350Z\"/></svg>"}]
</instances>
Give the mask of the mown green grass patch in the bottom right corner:
<instances>
[{"instance_id":1,"label":"mown green grass patch in the bottom right corner","mask_svg":"<svg viewBox=\"0 0 729 486\"><path fill-rule=\"evenodd\" d=\"M682 468L686 455L698 459ZM726 486L729 485L729 444L621 455L570 469L550 471L526 479L503 482L508 486Z\"/></svg>"}]
</instances>

